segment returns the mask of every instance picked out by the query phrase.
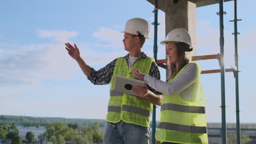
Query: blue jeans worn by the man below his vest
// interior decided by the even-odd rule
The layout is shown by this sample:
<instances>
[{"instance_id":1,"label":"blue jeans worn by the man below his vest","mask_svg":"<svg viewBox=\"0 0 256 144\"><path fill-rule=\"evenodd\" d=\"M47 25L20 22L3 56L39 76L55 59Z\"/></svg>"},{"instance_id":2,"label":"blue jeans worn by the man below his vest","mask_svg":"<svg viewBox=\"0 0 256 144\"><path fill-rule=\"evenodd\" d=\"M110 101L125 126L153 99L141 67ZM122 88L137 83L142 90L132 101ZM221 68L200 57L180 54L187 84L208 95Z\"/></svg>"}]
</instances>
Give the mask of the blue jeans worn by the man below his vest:
<instances>
[{"instance_id":1,"label":"blue jeans worn by the man below his vest","mask_svg":"<svg viewBox=\"0 0 256 144\"><path fill-rule=\"evenodd\" d=\"M106 123L103 144L149 144L148 127L125 123Z\"/></svg>"}]
</instances>

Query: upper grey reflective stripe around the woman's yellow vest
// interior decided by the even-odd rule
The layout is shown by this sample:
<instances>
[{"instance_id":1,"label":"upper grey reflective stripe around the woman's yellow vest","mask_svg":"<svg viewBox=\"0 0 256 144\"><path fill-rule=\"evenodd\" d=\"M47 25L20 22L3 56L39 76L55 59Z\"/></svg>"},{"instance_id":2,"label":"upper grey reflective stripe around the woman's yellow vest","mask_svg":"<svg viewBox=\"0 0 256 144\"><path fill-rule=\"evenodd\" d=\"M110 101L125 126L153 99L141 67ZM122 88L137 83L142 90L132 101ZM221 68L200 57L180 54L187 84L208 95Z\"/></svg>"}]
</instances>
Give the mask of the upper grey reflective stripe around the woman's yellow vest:
<instances>
[{"instance_id":1,"label":"upper grey reflective stripe around the woman's yellow vest","mask_svg":"<svg viewBox=\"0 0 256 144\"><path fill-rule=\"evenodd\" d=\"M190 112L190 113L205 113L204 106L186 106L186 105L177 105L177 104L163 104L161 105L161 111L172 110L180 112Z\"/></svg>"}]
</instances>

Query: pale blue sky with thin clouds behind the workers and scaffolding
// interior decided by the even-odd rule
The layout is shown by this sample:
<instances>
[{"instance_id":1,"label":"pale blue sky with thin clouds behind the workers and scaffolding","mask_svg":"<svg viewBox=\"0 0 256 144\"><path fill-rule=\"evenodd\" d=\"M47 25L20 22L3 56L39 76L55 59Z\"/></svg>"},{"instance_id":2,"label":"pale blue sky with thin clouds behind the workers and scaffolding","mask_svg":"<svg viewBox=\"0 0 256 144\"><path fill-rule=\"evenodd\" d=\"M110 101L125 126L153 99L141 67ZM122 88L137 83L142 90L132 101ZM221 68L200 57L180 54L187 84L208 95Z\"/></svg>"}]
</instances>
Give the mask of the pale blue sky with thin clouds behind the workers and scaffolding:
<instances>
[{"instance_id":1,"label":"pale blue sky with thin clouds behind the workers and scaffolding","mask_svg":"<svg viewBox=\"0 0 256 144\"><path fill-rule=\"evenodd\" d=\"M237 1L241 122L256 122L253 0ZM0 115L105 119L109 85L95 86L69 57L64 43L77 44L91 67L100 69L126 55L125 22L142 17L152 23L147 1L3 1L0 9ZM219 53L219 5L197 8L197 55ZM234 65L234 2L225 2L225 65ZM165 14L159 11L158 42L165 39ZM143 47L153 57L154 27ZM158 58L165 47L158 44ZM203 70L218 69L217 60L198 61ZM165 70L160 68L161 79ZM221 122L220 74L201 75L207 121ZM235 79L225 74L226 121L235 122ZM159 108L157 118L160 118Z\"/></svg>"}]
</instances>

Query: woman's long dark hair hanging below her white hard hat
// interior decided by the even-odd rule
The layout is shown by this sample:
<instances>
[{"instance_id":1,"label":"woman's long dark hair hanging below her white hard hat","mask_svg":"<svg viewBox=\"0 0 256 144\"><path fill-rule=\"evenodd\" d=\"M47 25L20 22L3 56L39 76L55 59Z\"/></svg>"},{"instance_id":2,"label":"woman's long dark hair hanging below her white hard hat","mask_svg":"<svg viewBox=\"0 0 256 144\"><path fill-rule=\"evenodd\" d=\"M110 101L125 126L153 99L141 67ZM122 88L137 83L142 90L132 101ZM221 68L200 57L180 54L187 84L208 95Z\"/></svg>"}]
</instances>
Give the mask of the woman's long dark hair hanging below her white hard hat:
<instances>
[{"instance_id":1,"label":"woman's long dark hair hanging below her white hard hat","mask_svg":"<svg viewBox=\"0 0 256 144\"><path fill-rule=\"evenodd\" d=\"M176 43L176 47L177 47L177 61L178 61L179 67L178 69L176 69L176 65L171 64L170 79L176 76L177 73L179 73L179 71L181 71L181 69L189 63L189 59L185 57L185 51L189 50L189 45L185 43Z\"/></svg>"}]
</instances>

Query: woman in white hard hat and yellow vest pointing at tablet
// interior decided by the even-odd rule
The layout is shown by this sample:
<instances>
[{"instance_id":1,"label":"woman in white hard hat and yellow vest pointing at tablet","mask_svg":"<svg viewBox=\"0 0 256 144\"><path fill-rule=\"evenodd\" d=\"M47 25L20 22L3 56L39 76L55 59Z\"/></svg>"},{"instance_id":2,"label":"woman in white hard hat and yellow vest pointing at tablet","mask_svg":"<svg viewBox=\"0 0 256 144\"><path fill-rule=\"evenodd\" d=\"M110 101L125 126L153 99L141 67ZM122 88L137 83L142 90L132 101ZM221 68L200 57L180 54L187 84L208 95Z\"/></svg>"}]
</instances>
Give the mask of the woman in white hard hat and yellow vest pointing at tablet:
<instances>
[{"instance_id":1,"label":"woman in white hard hat and yellow vest pointing at tablet","mask_svg":"<svg viewBox=\"0 0 256 144\"><path fill-rule=\"evenodd\" d=\"M190 35L185 29L176 28L160 44L166 45L166 57L171 66L167 82L144 75L137 69L130 73L163 93L161 101L158 101L148 95L147 87L133 87L140 97L152 97L148 98L151 103L161 105L156 143L208 143L201 67L197 63L189 63L185 57L185 52L193 50Z\"/></svg>"}]
</instances>

